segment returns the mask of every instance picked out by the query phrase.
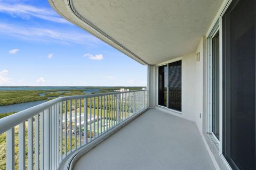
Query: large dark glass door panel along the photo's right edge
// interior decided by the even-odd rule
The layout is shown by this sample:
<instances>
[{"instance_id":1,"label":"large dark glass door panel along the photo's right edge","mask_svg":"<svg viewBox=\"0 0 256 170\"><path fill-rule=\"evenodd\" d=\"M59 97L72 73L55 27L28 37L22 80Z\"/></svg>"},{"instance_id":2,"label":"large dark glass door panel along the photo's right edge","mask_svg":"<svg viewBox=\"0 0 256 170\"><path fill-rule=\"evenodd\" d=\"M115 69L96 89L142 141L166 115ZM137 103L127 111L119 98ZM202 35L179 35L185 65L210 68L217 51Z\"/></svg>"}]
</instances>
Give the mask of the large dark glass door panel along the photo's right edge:
<instances>
[{"instance_id":1,"label":"large dark glass door panel along the photo's right edge","mask_svg":"<svg viewBox=\"0 0 256 170\"><path fill-rule=\"evenodd\" d=\"M223 15L223 155L255 167L255 0L233 0Z\"/></svg>"}]
</instances>

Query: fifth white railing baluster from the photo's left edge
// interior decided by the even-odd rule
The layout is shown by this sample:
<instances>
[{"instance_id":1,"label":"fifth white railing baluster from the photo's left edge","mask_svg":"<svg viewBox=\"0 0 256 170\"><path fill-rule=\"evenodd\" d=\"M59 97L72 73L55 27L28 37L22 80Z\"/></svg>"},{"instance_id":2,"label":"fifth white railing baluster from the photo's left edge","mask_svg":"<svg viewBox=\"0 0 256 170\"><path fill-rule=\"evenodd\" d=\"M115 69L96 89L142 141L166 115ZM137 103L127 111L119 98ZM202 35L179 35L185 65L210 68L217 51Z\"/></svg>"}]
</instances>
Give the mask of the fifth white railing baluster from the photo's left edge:
<instances>
[{"instance_id":1,"label":"fifth white railing baluster from the photo's left edge","mask_svg":"<svg viewBox=\"0 0 256 170\"><path fill-rule=\"evenodd\" d=\"M44 112L40 113L40 169L44 169Z\"/></svg>"}]
</instances>

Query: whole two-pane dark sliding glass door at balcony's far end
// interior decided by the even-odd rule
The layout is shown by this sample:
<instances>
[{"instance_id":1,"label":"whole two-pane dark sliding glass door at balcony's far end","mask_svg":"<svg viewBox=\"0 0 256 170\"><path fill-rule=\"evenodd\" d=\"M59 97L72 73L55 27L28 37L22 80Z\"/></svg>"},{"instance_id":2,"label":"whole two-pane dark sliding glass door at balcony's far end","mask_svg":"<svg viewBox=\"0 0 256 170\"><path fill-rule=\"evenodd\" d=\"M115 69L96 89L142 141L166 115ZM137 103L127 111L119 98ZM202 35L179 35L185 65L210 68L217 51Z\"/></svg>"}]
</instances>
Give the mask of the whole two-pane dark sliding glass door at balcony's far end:
<instances>
[{"instance_id":1,"label":"whole two-pane dark sliding glass door at balcony's far end","mask_svg":"<svg viewBox=\"0 0 256 170\"><path fill-rule=\"evenodd\" d=\"M181 61L158 67L158 105L181 112Z\"/></svg>"}]
</instances>

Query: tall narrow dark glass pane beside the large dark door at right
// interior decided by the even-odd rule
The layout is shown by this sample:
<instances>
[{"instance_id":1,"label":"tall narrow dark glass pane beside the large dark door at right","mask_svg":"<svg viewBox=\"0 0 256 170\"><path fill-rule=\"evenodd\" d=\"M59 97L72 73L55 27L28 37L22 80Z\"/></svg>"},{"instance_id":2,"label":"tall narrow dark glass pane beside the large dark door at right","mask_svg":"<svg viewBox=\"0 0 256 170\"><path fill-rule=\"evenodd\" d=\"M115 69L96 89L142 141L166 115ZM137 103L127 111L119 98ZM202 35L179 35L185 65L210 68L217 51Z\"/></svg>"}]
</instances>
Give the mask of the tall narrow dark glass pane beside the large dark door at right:
<instances>
[{"instance_id":1,"label":"tall narrow dark glass pane beside the large dark door at right","mask_svg":"<svg viewBox=\"0 0 256 170\"><path fill-rule=\"evenodd\" d=\"M212 132L219 140L219 31L212 38Z\"/></svg>"}]
</instances>

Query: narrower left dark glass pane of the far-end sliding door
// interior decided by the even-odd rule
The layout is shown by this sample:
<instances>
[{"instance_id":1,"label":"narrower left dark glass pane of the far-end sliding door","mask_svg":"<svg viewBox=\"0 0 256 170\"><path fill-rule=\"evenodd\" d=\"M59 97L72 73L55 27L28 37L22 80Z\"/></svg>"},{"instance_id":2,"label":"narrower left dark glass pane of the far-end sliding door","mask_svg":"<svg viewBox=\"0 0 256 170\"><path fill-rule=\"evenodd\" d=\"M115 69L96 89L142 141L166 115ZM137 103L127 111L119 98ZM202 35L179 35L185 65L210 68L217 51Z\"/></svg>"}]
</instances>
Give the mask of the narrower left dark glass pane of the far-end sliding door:
<instances>
[{"instance_id":1,"label":"narrower left dark glass pane of the far-end sliding door","mask_svg":"<svg viewBox=\"0 0 256 170\"><path fill-rule=\"evenodd\" d=\"M158 105L166 107L167 65L158 67Z\"/></svg>"}]
</instances>

